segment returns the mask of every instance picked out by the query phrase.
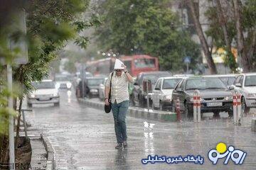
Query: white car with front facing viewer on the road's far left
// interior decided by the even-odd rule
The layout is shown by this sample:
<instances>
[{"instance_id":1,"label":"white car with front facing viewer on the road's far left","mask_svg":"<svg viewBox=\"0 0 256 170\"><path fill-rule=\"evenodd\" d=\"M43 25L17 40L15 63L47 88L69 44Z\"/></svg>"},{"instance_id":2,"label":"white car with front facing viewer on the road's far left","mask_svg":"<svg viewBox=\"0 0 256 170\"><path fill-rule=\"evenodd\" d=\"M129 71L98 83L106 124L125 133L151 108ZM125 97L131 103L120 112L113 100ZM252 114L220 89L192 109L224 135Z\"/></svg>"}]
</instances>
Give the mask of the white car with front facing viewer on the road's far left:
<instances>
[{"instance_id":1,"label":"white car with front facing viewer on the road's far left","mask_svg":"<svg viewBox=\"0 0 256 170\"><path fill-rule=\"evenodd\" d=\"M31 107L32 104L45 103L53 103L55 106L60 105L60 95L54 81L43 80L41 82L34 82L32 86L35 88L35 91L27 96L28 107Z\"/></svg>"}]
</instances>

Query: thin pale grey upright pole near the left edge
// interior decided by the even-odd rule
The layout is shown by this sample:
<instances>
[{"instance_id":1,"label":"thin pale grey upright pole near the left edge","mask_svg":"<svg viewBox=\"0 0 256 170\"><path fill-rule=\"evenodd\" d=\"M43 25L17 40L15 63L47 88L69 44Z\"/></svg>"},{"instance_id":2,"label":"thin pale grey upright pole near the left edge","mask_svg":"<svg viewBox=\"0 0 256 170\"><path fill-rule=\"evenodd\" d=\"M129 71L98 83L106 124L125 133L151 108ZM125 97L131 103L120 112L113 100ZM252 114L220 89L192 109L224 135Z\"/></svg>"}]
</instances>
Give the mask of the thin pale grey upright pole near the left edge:
<instances>
[{"instance_id":1,"label":"thin pale grey upright pole near the left edge","mask_svg":"<svg viewBox=\"0 0 256 170\"><path fill-rule=\"evenodd\" d=\"M8 89L12 94L12 68L7 64L7 83ZM11 110L14 107L12 96L8 97L8 107ZM10 169L15 169L15 155L14 155L14 117L9 114L9 157Z\"/></svg>"}]
</instances>

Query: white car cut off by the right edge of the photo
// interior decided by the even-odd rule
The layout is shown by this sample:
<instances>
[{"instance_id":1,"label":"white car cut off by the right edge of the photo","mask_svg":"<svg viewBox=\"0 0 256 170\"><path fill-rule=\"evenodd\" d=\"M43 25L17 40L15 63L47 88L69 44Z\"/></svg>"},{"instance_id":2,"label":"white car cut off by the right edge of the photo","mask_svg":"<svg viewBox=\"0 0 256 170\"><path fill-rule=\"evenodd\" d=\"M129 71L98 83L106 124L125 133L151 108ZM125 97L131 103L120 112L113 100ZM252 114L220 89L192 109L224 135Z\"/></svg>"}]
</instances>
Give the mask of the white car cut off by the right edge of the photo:
<instances>
[{"instance_id":1,"label":"white car cut off by the right edge of the photo","mask_svg":"<svg viewBox=\"0 0 256 170\"><path fill-rule=\"evenodd\" d=\"M250 108L256 108L256 73L239 74L233 86L242 94L243 113L249 113Z\"/></svg>"}]
</instances>

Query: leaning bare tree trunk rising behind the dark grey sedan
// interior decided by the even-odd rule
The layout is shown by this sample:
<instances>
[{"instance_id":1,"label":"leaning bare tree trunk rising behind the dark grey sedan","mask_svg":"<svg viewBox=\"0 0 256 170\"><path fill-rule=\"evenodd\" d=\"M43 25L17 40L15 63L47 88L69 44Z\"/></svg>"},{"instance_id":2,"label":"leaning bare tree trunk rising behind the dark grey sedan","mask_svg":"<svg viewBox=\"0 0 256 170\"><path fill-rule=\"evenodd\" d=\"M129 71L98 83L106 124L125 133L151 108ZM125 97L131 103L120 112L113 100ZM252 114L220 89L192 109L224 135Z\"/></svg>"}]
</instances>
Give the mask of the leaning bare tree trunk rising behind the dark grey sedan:
<instances>
[{"instance_id":1,"label":"leaning bare tree trunk rising behind the dark grey sedan","mask_svg":"<svg viewBox=\"0 0 256 170\"><path fill-rule=\"evenodd\" d=\"M206 61L207 61L208 67L210 69L210 74L217 74L217 69L215 67L215 63L213 62L213 57L210 53L206 38L203 35L203 30L202 30L202 27L201 27L201 23L199 22L199 18L196 15L196 11L195 11L195 7L193 5L193 1L188 0L187 2L188 2L189 8L191 8L193 23L196 26L196 32L198 33L198 37L201 41L201 45L203 47L203 53L204 53L204 55L206 55Z\"/></svg>"}]
</instances>

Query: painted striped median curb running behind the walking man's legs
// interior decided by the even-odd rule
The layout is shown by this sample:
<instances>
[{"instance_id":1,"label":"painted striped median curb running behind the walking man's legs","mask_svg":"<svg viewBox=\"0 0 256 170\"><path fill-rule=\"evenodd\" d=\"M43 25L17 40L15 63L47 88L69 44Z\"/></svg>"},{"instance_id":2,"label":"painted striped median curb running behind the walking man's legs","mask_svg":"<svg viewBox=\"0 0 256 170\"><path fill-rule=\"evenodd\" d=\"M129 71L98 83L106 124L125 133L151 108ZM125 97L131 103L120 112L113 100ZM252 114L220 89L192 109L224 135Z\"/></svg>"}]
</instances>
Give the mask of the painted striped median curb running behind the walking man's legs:
<instances>
[{"instance_id":1,"label":"painted striped median curb running behind the walking man's legs","mask_svg":"<svg viewBox=\"0 0 256 170\"><path fill-rule=\"evenodd\" d=\"M78 98L78 101L80 101L81 103L85 103L85 105L90 106L92 108L104 110L104 103L100 101L90 101L88 99L82 98ZM147 111L146 108L129 107L128 115L134 118L146 118L149 120L159 120L166 122L177 121L176 113L167 111L153 111L151 109Z\"/></svg>"}]
</instances>

